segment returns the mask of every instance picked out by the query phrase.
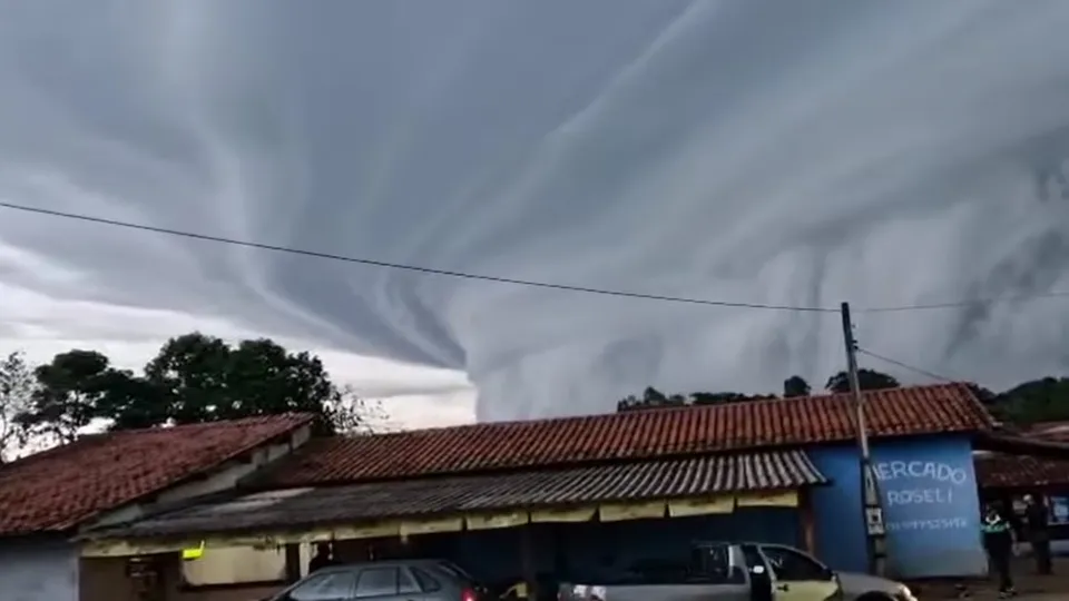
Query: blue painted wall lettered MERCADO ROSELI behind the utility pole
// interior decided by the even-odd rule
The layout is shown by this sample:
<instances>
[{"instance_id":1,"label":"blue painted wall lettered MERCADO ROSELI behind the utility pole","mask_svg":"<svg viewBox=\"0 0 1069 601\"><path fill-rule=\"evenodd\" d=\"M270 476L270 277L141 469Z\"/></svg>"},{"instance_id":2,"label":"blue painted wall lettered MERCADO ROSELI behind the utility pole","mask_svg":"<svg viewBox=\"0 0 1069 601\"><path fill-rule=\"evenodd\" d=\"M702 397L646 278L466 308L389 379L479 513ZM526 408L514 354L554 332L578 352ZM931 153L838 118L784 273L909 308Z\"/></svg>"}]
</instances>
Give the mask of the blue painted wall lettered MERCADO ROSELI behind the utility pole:
<instances>
[{"instance_id":1,"label":"blue painted wall lettered MERCADO ROSELI behind the utility pole","mask_svg":"<svg viewBox=\"0 0 1069 601\"><path fill-rule=\"evenodd\" d=\"M813 491L817 553L836 570L865 571L857 447L820 447L808 453L834 482ZM892 573L899 578L985 573L969 440L924 436L877 441L872 459L884 502Z\"/></svg>"}]
</instances>

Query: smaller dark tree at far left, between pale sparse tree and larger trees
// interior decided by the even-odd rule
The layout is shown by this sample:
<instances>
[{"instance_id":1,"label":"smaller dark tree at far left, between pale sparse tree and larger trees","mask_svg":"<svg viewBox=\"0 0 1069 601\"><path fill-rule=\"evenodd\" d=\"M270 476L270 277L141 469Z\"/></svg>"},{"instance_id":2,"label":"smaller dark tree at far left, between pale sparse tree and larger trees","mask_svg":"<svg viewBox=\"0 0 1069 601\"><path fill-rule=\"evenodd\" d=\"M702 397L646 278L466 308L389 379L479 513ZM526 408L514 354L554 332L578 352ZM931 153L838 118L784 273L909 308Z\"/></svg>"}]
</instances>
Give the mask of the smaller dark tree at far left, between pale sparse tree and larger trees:
<instances>
[{"instance_id":1,"label":"smaller dark tree at far left, between pale sparse tree and larger trees","mask_svg":"<svg viewBox=\"0 0 1069 601\"><path fill-rule=\"evenodd\" d=\"M56 355L33 370L37 387L29 407L17 417L23 435L68 443L96 417L111 372L108 357L96 351L73 349Z\"/></svg>"}]
</instances>

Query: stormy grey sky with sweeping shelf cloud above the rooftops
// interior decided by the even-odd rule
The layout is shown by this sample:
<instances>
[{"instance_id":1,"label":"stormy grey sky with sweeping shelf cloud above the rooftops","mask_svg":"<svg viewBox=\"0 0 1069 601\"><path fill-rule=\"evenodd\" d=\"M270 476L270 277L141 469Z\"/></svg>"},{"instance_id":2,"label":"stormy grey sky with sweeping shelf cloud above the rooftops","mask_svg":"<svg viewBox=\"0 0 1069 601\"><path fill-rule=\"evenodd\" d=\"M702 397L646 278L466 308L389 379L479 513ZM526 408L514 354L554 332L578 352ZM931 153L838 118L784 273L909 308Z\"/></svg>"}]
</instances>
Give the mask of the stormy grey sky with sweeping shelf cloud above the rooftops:
<instances>
[{"instance_id":1,"label":"stormy grey sky with sweeping shelf cloud above the rooftops","mask_svg":"<svg viewBox=\"0 0 1069 601\"><path fill-rule=\"evenodd\" d=\"M855 309L993 387L1069 364L1065 0L0 0L0 200L497 277ZM874 307L1017 300L931 311ZM391 270L0 209L0 351L200 329L404 427L776 392L838 316ZM918 373L862 357L906 382Z\"/></svg>"}]
</instances>

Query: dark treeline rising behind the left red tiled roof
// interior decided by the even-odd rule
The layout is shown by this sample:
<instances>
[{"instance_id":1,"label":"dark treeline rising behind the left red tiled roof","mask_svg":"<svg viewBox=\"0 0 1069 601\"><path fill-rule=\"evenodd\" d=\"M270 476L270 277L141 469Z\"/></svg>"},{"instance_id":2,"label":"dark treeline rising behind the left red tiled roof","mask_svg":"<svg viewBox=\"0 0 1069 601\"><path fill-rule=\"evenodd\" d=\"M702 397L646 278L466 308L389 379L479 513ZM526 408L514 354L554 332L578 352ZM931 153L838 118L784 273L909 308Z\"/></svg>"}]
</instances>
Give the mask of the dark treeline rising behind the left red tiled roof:
<instances>
[{"instance_id":1,"label":"dark treeline rising behind the left red tiled roof","mask_svg":"<svg viewBox=\"0 0 1069 601\"><path fill-rule=\"evenodd\" d=\"M140 373L98 351L71 349L32 366L0 359L0 451L62 444L92 423L130 430L312 413L322 433L370 427L381 408L332 382L318 357L267 339L231 345L198 332L167 341Z\"/></svg>"}]
</instances>

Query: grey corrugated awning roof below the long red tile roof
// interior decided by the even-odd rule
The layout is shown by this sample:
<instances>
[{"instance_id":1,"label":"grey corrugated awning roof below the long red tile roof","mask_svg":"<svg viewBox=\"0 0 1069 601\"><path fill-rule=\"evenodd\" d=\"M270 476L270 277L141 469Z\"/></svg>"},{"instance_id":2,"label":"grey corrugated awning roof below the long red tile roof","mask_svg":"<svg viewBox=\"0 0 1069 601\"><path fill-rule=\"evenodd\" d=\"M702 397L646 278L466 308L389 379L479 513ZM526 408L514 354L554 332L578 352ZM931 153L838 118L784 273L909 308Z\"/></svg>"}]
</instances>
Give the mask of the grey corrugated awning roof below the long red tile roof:
<instances>
[{"instance_id":1,"label":"grey corrugated awning roof below the long red tile roof","mask_svg":"<svg viewBox=\"0 0 1069 601\"><path fill-rule=\"evenodd\" d=\"M128 526L102 530L94 536L263 532L383 518L798 489L826 482L803 451L773 451L266 491L198 504Z\"/></svg>"}]
</instances>

